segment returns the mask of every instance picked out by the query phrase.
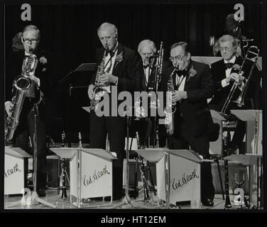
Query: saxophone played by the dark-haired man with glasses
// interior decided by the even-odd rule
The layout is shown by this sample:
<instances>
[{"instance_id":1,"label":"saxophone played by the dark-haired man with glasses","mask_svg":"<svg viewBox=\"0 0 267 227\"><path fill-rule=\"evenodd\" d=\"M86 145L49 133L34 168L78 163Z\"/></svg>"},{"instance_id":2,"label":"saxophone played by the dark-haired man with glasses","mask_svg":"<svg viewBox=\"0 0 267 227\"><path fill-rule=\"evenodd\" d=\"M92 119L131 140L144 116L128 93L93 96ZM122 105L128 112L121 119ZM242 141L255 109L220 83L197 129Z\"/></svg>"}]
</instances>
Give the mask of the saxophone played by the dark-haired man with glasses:
<instances>
[{"instance_id":1,"label":"saxophone played by the dark-haired man with glasses","mask_svg":"<svg viewBox=\"0 0 267 227\"><path fill-rule=\"evenodd\" d=\"M172 102L172 94L174 92L173 74L177 68L175 67L173 72L170 74L167 83L167 101L165 107L165 128L167 135L173 135L174 132L174 113L176 111L176 103Z\"/></svg>"}]
</instances>

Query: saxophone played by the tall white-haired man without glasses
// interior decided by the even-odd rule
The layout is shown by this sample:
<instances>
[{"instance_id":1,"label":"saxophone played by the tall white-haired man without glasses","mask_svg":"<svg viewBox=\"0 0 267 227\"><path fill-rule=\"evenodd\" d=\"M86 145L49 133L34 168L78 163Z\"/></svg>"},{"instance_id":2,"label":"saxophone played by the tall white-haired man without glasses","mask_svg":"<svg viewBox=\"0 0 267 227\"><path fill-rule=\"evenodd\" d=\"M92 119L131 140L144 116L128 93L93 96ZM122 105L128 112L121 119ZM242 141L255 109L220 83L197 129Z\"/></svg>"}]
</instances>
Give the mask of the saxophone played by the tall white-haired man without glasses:
<instances>
[{"instance_id":1,"label":"saxophone played by the tall white-haired man without glasses","mask_svg":"<svg viewBox=\"0 0 267 227\"><path fill-rule=\"evenodd\" d=\"M93 99L91 100L90 102L90 106L89 106L89 109L91 111L94 111L97 104L99 103L99 100L101 98L101 96L104 95L104 92L107 92L101 82L99 81L99 76L101 76L102 74L104 74L104 69L105 69L105 61L106 61L106 56L107 56L107 53L109 51L109 48L108 46L106 45L105 47L105 50L104 50L104 56L102 58L102 61L100 62L100 65L97 67L97 75L96 75L96 78L95 78L95 81L94 81L94 97Z\"/></svg>"}]
</instances>

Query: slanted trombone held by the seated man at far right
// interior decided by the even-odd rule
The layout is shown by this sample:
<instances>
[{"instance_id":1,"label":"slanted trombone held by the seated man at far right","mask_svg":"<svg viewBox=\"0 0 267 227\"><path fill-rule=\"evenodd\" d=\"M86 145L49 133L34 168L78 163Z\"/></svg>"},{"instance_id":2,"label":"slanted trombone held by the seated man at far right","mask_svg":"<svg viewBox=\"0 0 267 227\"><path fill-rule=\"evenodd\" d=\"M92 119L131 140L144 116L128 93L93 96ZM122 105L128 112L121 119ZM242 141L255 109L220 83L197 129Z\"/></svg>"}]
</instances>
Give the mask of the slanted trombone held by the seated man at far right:
<instances>
[{"instance_id":1,"label":"slanted trombone held by the seated man at far right","mask_svg":"<svg viewBox=\"0 0 267 227\"><path fill-rule=\"evenodd\" d=\"M227 111L227 108L232 100L232 97L234 95L234 93L236 92L236 89L239 89L239 84L241 82L241 76L244 74L244 65L245 65L245 62L246 60L249 60L250 62L253 62L253 65L251 65L251 69L249 71L249 76L247 77L247 79L244 79L244 87L241 89L241 93L239 94L238 98L236 100L234 100L233 102L235 102L239 107L241 106L244 106L244 98L246 96L246 91L249 87L249 82L251 80L251 74L254 70L254 67L256 65L256 62L258 60L258 55L259 55L259 50L258 48L253 45L251 46L247 52L246 52L246 56L242 62L242 65L239 69L239 81L235 81L233 86L231 87L231 90L229 92L229 95L227 96L227 99L226 101L224 102L224 106L222 107L222 111L221 113L225 115L226 111Z\"/></svg>"}]
</instances>

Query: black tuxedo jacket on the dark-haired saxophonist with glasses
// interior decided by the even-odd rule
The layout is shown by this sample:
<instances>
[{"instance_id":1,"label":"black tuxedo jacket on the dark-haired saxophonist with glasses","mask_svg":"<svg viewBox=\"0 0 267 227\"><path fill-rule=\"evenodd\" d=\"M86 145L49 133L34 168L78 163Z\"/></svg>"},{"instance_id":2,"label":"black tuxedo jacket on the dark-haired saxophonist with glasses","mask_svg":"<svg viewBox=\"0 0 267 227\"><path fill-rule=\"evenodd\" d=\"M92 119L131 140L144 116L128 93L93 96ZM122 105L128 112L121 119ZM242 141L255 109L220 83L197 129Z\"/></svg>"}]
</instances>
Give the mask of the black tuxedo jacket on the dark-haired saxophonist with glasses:
<instances>
[{"instance_id":1,"label":"black tuxedo jacket on the dark-haired saxophonist with glasses","mask_svg":"<svg viewBox=\"0 0 267 227\"><path fill-rule=\"evenodd\" d=\"M163 73L163 91L167 91L168 78L173 69L173 67L169 67ZM193 73L190 76L190 70L187 70L184 89L187 92L187 99L176 102L175 134L186 132L185 135L200 137L207 133L210 121L207 99L212 96L212 76L209 66L200 62L191 60L188 69ZM178 122L180 115L183 118L182 123Z\"/></svg>"}]
</instances>

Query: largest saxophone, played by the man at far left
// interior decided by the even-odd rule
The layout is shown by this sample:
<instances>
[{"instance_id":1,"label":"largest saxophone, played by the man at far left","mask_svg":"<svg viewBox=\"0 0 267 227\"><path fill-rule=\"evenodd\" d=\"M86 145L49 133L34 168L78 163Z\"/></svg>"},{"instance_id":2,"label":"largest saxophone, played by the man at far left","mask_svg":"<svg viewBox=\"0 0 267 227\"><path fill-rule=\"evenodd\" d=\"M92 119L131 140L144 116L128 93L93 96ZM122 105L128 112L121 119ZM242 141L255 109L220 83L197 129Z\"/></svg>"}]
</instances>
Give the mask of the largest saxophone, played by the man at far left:
<instances>
[{"instance_id":1,"label":"largest saxophone, played by the man at far left","mask_svg":"<svg viewBox=\"0 0 267 227\"><path fill-rule=\"evenodd\" d=\"M16 93L11 99L11 116L6 118L5 139L7 142L13 138L13 134L18 126L19 116L26 97L26 92L32 85L32 80L29 76L31 72L36 70L37 63L38 59L36 55L33 55L33 50L30 49L28 61L23 61L21 76L13 82L13 87L16 88Z\"/></svg>"}]
</instances>

